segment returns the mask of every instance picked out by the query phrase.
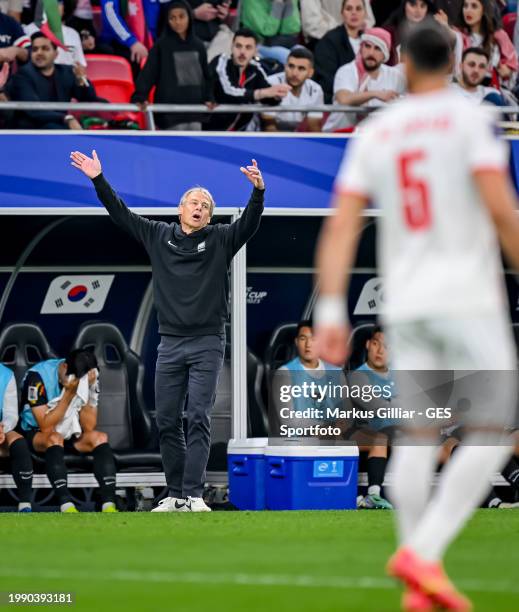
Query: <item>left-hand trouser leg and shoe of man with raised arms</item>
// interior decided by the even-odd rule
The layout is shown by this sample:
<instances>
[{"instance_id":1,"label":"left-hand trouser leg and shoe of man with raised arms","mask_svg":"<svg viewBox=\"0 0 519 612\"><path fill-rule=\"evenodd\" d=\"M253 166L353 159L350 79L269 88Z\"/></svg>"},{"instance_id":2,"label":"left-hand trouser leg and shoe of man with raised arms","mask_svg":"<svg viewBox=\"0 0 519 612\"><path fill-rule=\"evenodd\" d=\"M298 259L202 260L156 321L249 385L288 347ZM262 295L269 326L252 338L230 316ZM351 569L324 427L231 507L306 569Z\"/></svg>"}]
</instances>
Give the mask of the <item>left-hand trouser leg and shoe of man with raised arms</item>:
<instances>
[{"instance_id":1,"label":"left-hand trouser leg and shoe of man with raised arms","mask_svg":"<svg viewBox=\"0 0 519 612\"><path fill-rule=\"evenodd\" d=\"M185 363L186 338L163 336L155 370L155 412L159 430L160 454L168 497L152 512L185 511L184 466L186 441L182 416L187 393L188 369Z\"/></svg>"}]
</instances>

